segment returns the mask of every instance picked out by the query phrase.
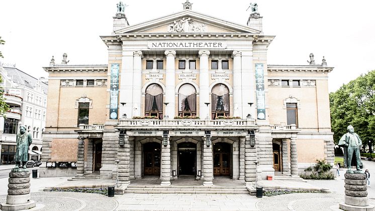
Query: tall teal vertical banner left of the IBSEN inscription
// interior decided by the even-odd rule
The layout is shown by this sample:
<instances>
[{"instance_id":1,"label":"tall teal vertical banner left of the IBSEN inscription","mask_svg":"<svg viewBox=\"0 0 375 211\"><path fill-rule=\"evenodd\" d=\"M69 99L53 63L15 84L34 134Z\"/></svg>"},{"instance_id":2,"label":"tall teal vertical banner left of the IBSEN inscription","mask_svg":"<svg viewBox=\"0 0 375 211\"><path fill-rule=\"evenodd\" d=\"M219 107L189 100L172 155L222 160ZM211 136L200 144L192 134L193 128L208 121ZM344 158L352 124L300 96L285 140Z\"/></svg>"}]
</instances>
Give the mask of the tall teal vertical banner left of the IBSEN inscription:
<instances>
[{"instance_id":1,"label":"tall teal vertical banner left of the IBSEN inscription","mask_svg":"<svg viewBox=\"0 0 375 211\"><path fill-rule=\"evenodd\" d=\"M119 113L119 68L120 64L111 64L110 119L117 119Z\"/></svg>"}]
</instances>

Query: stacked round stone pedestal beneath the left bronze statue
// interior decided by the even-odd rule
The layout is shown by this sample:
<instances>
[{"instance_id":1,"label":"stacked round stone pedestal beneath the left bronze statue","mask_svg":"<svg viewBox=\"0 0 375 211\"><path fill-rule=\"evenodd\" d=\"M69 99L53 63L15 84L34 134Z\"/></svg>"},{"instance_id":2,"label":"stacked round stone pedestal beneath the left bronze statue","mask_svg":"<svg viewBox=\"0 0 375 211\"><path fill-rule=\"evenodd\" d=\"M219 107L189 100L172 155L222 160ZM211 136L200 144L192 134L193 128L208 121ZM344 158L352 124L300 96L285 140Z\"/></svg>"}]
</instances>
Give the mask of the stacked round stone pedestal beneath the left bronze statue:
<instances>
[{"instance_id":1,"label":"stacked round stone pedestal beneath the left bronze statue","mask_svg":"<svg viewBox=\"0 0 375 211\"><path fill-rule=\"evenodd\" d=\"M26 169L12 169L9 173L7 203L2 203L2 210L21 210L35 207L30 200L30 172Z\"/></svg>"}]
</instances>

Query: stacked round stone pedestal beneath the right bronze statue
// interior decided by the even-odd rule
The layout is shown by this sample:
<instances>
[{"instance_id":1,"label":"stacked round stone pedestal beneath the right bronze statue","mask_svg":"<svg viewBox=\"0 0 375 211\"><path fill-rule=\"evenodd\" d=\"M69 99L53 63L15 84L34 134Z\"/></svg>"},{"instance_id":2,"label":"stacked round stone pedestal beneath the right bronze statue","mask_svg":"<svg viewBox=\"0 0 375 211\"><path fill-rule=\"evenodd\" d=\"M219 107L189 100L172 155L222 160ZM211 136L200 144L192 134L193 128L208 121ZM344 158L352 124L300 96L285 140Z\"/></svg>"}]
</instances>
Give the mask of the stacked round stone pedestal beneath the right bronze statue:
<instances>
[{"instance_id":1,"label":"stacked round stone pedestal beneath the right bronze statue","mask_svg":"<svg viewBox=\"0 0 375 211\"><path fill-rule=\"evenodd\" d=\"M374 205L368 204L366 175L362 171L346 171L345 202L339 203L343 210L372 210Z\"/></svg>"}]
</instances>

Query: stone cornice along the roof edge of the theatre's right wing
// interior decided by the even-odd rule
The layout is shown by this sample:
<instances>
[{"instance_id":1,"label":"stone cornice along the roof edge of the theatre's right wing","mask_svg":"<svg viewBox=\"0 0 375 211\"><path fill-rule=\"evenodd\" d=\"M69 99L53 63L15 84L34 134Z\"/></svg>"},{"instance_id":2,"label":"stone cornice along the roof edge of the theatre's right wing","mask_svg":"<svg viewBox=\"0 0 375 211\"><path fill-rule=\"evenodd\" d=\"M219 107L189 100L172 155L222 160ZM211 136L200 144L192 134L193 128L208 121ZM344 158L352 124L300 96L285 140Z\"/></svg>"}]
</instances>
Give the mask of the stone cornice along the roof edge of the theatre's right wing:
<instances>
[{"instance_id":1,"label":"stone cornice along the roof edge of the theatre's right wing","mask_svg":"<svg viewBox=\"0 0 375 211\"><path fill-rule=\"evenodd\" d=\"M334 67L322 65L267 65L269 72L321 72L330 73Z\"/></svg>"}]
</instances>

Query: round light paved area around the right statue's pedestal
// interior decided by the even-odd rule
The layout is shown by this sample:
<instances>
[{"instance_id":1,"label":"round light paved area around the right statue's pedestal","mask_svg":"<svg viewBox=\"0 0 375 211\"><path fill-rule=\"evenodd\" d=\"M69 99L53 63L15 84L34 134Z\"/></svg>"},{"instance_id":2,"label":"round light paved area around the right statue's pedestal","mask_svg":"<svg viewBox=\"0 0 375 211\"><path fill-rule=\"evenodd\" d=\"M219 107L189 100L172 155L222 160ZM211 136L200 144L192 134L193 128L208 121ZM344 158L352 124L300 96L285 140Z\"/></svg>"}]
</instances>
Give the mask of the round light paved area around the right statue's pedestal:
<instances>
[{"instance_id":1,"label":"round light paved area around the right statue's pedestal","mask_svg":"<svg viewBox=\"0 0 375 211\"><path fill-rule=\"evenodd\" d=\"M259 210L340 210L338 203L344 194L338 193L291 193L266 197L256 203ZM374 204L375 200L369 200Z\"/></svg>"}]
</instances>

